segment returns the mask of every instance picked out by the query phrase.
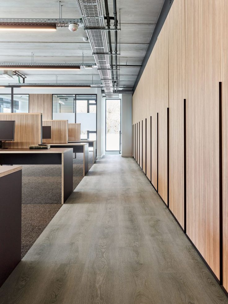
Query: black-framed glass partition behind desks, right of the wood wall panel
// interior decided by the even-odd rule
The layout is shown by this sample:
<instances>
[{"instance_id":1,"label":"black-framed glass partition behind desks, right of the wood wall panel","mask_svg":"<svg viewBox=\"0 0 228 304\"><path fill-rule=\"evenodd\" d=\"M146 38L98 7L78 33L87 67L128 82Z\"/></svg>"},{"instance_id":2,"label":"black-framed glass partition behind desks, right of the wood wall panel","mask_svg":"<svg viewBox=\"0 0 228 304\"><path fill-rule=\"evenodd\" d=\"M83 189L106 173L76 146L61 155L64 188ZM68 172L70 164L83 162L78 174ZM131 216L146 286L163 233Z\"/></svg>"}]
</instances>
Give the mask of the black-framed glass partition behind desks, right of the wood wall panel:
<instances>
[{"instance_id":1,"label":"black-framed glass partition behind desks, right of the wood wall panel","mask_svg":"<svg viewBox=\"0 0 228 304\"><path fill-rule=\"evenodd\" d=\"M97 139L97 96L52 95L52 119L68 119L81 124L81 139Z\"/></svg>"}]
</instances>

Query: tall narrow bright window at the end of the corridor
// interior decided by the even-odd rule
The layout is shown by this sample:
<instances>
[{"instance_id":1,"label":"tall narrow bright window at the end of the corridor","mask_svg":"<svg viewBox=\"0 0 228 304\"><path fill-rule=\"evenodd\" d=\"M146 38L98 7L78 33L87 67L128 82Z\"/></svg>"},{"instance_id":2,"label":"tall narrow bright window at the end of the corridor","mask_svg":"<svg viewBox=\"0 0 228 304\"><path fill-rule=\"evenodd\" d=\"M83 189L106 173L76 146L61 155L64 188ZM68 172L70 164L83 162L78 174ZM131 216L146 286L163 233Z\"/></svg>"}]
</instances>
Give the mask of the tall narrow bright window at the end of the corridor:
<instances>
[{"instance_id":1,"label":"tall narrow bright window at the end of the corridor","mask_svg":"<svg viewBox=\"0 0 228 304\"><path fill-rule=\"evenodd\" d=\"M106 99L106 151L120 151L121 99Z\"/></svg>"}]
</instances>

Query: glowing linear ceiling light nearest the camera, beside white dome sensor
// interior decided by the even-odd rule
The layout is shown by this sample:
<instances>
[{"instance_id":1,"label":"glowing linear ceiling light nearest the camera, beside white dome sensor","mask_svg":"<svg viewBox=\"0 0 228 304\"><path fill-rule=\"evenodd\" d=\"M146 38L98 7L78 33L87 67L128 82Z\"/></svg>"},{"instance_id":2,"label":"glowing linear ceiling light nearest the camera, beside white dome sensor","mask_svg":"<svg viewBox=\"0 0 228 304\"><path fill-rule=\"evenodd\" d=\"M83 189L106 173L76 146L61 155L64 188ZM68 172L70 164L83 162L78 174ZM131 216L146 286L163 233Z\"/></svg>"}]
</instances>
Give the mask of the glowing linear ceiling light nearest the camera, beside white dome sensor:
<instances>
[{"instance_id":1,"label":"glowing linear ceiling light nearest the camera, beside white dome sensor","mask_svg":"<svg viewBox=\"0 0 228 304\"><path fill-rule=\"evenodd\" d=\"M56 31L56 24L0 24L0 31Z\"/></svg>"}]
</instances>

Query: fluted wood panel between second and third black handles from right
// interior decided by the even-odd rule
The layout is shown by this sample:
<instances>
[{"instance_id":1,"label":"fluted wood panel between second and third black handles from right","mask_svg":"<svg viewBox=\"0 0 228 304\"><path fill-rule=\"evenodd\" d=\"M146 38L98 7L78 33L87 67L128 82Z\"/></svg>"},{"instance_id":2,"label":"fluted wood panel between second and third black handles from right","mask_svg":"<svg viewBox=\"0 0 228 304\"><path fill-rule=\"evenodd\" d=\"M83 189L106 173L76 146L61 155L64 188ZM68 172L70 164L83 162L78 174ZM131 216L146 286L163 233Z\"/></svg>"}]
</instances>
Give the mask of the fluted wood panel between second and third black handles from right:
<instances>
[{"instance_id":1,"label":"fluted wood panel between second and third black handles from right","mask_svg":"<svg viewBox=\"0 0 228 304\"><path fill-rule=\"evenodd\" d=\"M184 228L185 2L174 1L169 22L169 208Z\"/></svg>"}]
</instances>

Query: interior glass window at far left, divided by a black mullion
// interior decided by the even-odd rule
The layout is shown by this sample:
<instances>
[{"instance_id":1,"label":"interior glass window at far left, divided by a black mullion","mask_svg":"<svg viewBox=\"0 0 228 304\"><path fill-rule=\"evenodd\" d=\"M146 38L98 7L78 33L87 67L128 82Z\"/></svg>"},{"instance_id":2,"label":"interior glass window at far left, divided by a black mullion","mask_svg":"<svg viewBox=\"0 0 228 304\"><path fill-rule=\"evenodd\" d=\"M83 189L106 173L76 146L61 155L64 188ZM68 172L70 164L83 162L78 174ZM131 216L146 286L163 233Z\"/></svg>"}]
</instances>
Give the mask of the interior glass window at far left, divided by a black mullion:
<instances>
[{"instance_id":1,"label":"interior glass window at far left, divided by a black mullion","mask_svg":"<svg viewBox=\"0 0 228 304\"><path fill-rule=\"evenodd\" d=\"M29 95L13 95L13 113L28 113ZM0 95L0 113L11 113L11 94Z\"/></svg>"}]
</instances>

